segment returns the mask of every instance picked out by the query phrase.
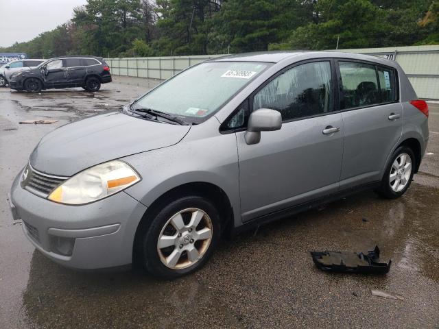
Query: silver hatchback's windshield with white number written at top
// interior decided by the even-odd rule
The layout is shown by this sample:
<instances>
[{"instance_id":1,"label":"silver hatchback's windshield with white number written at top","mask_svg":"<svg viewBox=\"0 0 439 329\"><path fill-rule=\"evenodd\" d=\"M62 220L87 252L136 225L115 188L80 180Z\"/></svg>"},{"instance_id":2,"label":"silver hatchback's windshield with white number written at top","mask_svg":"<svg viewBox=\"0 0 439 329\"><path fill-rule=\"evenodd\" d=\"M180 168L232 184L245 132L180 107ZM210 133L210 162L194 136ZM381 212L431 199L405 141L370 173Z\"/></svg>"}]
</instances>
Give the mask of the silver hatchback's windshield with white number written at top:
<instances>
[{"instance_id":1,"label":"silver hatchback's windshield with white number written at top","mask_svg":"<svg viewBox=\"0 0 439 329\"><path fill-rule=\"evenodd\" d=\"M201 123L269 65L259 62L198 64L158 86L133 106Z\"/></svg>"}]
</instances>

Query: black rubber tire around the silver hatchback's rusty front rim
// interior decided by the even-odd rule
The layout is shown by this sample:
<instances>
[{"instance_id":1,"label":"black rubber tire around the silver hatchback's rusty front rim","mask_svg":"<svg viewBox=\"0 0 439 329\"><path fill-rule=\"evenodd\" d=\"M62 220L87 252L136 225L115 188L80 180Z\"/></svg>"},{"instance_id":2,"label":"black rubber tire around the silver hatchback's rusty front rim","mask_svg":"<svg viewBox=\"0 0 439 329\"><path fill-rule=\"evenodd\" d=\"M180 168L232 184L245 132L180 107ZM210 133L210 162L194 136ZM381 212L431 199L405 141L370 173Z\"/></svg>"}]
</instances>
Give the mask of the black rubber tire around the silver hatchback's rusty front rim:
<instances>
[{"instance_id":1,"label":"black rubber tire around the silver hatchback's rusty front rim","mask_svg":"<svg viewBox=\"0 0 439 329\"><path fill-rule=\"evenodd\" d=\"M215 249L221 232L220 223L219 223L219 214L215 206L204 197L200 197L198 195L191 195L186 197L180 197L178 199L169 199L163 204L163 208L157 209L156 211L152 211L152 213L147 214L152 218L152 222L149 226L146 224L143 225L143 228L139 228L139 232L136 236L137 241L137 251L139 252L137 261L142 265L144 269L146 269L149 273L157 278L165 278L167 280L179 278L181 276L185 276L193 271L196 271L202 267L206 261L213 254L213 250ZM158 252L158 238L161 236L163 230L167 228L170 224L167 225L169 219L171 219L174 215L182 210L187 210L189 208L197 208L206 213L211 221L211 241L206 247L204 254L200 254L200 258L196 260L192 265L187 265L188 267L182 269L171 269L167 267L161 260L161 256ZM147 219L147 218L145 218ZM187 224L187 221L185 221ZM198 230L198 228L197 228ZM195 230L196 231L196 230ZM178 232L176 231L175 234ZM183 239L185 236L182 236ZM191 243L193 240L191 240ZM193 246L195 247L195 241ZM180 245L181 247L182 245ZM186 247L186 246L185 246ZM190 247L188 243L188 247ZM170 248L178 249L178 247L174 247L172 245ZM182 258L187 257L187 261L189 261L189 257L185 252L182 254ZM182 259L180 258L180 260ZM183 259L184 262L184 259ZM189 262L191 263L191 262Z\"/></svg>"}]
</instances>

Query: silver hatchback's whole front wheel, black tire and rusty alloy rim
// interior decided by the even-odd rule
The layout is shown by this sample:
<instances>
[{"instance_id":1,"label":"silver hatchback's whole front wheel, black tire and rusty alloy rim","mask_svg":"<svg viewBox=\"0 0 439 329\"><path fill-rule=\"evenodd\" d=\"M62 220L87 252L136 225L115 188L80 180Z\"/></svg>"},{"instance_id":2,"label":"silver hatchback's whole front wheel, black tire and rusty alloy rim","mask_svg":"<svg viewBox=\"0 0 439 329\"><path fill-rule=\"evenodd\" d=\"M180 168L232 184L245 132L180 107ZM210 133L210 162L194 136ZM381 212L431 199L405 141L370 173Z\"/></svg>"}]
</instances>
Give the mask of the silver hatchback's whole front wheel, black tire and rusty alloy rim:
<instances>
[{"instance_id":1,"label":"silver hatchback's whole front wheel, black tire and rusty alloy rim","mask_svg":"<svg viewBox=\"0 0 439 329\"><path fill-rule=\"evenodd\" d=\"M166 204L139 236L139 259L154 276L173 279L206 263L219 240L219 215L208 199L196 195Z\"/></svg>"}]
</instances>

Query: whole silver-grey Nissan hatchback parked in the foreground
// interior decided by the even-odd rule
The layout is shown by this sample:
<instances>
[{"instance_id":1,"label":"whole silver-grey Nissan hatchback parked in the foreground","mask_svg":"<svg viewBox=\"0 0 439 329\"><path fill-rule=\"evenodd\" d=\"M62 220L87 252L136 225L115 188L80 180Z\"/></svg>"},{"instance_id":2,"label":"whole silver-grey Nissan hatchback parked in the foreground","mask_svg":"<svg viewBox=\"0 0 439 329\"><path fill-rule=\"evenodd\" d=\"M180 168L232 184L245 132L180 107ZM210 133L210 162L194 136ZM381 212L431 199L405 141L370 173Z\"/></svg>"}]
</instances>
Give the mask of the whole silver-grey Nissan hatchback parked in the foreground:
<instances>
[{"instance_id":1,"label":"whole silver-grey Nissan hatchback parked in the foreground","mask_svg":"<svg viewBox=\"0 0 439 329\"><path fill-rule=\"evenodd\" d=\"M226 56L118 112L47 134L12 185L15 219L52 260L201 267L224 232L361 188L401 197L428 108L390 60L338 52Z\"/></svg>"}]
</instances>

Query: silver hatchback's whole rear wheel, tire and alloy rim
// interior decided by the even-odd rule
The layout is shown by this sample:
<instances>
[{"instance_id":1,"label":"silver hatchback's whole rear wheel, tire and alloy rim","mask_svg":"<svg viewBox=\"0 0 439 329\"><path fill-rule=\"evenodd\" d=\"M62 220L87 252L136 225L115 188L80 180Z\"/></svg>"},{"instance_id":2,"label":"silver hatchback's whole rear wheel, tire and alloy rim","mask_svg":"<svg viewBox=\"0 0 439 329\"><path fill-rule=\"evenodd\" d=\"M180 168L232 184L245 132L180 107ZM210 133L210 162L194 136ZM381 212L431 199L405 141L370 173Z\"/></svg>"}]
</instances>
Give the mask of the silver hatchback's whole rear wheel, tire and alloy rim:
<instances>
[{"instance_id":1,"label":"silver hatchback's whole rear wheel, tire and alloy rim","mask_svg":"<svg viewBox=\"0 0 439 329\"><path fill-rule=\"evenodd\" d=\"M378 193L388 199L401 197L412 182L415 164L412 149L406 146L398 147L390 158Z\"/></svg>"}]
</instances>

